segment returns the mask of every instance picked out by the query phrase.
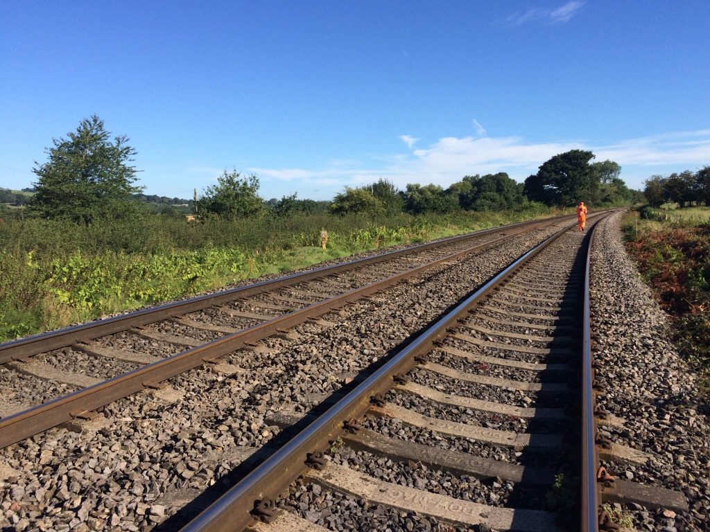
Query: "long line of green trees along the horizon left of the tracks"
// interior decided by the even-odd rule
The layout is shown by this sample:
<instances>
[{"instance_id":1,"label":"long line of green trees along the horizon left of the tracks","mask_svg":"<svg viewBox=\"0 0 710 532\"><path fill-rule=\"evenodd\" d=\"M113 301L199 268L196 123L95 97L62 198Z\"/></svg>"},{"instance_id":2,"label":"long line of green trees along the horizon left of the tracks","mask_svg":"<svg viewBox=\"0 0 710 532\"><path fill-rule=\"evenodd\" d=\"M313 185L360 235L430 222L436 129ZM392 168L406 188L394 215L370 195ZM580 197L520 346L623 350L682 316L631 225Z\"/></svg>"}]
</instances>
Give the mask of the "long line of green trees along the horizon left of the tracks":
<instances>
[{"instance_id":1,"label":"long line of green trees along the horizon left of the tracks","mask_svg":"<svg viewBox=\"0 0 710 532\"><path fill-rule=\"evenodd\" d=\"M259 179L225 170L217 183L192 201L165 196L147 196L136 184L138 170L131 163L136 150L126 135L111 137L104 121L91 116L81 121L67 138L53 139L45 149L48 160L35 162L38 176L35 194L28 202L30 214L44 218L71 218L92 223L102 217L124 217L136 213L136 201L160 205L158 214L169 214L173 203L185 203L200 218L248 218L271 213L345 215L446 214L454 211L501 211L517 209L531 202L547 206L571 206L585 201L591 206L638 201L640 192L626 187L621 167L613 161L591 162L594 153L570 150L543 163L524 183L505 172L466 175L449 187L438 184L408 184L400 190L387 179L362 187L345 187L332 201L298 199L297 194L264 200L259 196Z\"/></svg>"}]
</instances>

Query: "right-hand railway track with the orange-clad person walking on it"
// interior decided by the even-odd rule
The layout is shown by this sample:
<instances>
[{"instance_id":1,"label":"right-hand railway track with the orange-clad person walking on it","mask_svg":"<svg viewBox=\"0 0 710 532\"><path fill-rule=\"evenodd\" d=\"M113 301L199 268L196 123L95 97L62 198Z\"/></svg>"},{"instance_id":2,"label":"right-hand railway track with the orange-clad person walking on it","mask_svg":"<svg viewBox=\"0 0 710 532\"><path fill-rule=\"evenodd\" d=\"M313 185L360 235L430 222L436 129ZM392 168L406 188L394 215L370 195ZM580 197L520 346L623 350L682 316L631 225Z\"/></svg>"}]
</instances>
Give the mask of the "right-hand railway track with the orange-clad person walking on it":
<instances>
[{"instance_id":1,"label":"right-hand railway track with the orange-clad person walking on it","mask_svg":"<svg viewBox=\"0 0 710 532\"><path fill-rule=\"evenodd\" d=\"M283 431L182 531L589 532L620 529L602 503L687 511L600 467L648 456L599 431L621 420L596 407L594 226L536 245L309 413L273 414Z\"/></svg>"}]
</instances>

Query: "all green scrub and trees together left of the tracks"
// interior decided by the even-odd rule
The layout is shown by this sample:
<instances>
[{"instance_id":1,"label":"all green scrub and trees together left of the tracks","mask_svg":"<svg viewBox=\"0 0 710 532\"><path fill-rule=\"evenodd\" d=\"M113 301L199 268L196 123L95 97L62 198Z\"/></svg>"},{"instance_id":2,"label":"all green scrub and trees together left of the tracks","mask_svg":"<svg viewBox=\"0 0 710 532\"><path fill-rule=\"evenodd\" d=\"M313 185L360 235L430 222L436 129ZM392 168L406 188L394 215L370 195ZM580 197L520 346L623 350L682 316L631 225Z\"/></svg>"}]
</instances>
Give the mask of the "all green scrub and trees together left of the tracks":
<instances>
[{"instance_id":1,"label":"all green scrub and trees together left of the tracks","mask_svg":"<svg viewBox=\"0 0 710 532\"><path fill-rule=\"evenodd\" d=\"M265 201L258 177L236 170L188 201L143 194L128 140L111 139L98 116L84 119L46 148L33 188L0 191L0 340L386 245L559 214L578 199L594 207L630 197L616 163L590 165L594 154L573 150L540 167L535 194L544 203L503 172L448 188L400 190L379 179L333 201Z\"/></svg>"}]
</instances>

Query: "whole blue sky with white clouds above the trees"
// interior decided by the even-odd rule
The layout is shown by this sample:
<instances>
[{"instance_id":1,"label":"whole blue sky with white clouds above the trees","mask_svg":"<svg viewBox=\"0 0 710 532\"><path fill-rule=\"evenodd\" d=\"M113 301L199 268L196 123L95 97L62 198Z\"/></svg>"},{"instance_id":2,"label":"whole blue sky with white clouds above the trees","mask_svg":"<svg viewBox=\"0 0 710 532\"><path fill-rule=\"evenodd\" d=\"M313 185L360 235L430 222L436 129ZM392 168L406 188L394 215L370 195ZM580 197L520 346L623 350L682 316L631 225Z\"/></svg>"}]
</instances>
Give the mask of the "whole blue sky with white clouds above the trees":
<instances>
[{"instance_id":1,"label":"whole blue sky with white clouds above the trees","mask_svg":"<svg viewBox=\"0 0 710 532\"><path fill-rule=\"evenodd\" d=\"M710 165L710 2L0 3L0 187L93 113L149 194L444 186L594 150L633 187Z\"/></svg>"}]
</instances>

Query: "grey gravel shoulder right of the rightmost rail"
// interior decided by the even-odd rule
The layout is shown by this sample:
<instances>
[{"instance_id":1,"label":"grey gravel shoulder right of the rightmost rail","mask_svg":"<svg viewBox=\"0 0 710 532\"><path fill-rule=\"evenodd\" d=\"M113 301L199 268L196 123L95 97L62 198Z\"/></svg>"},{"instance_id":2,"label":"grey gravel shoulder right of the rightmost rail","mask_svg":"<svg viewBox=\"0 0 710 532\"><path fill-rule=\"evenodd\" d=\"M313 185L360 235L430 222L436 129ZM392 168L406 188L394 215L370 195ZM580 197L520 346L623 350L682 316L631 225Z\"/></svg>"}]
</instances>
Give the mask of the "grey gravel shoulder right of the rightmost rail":
<instances>
[{"instance_id":1,"label":"grey gravel shoulder right of the rightmost rail","mask_svg":"<svg viewBox=\"0 0 710 532\"><path fill-rule=\"evenodd\" d=\"M710 530L710 423L692 368L668 340L668 322L623 246L621 216L596 229L591 270L594 356L606 384L599 402L624 420L608 438L650 453L645 465L608 464L612 475L682 491L690 511L673 519L619 507L643 531Z\"/></svg>"}]
</instances>

